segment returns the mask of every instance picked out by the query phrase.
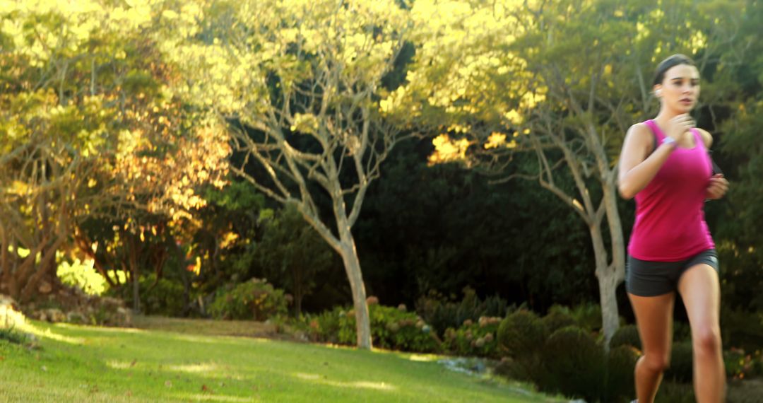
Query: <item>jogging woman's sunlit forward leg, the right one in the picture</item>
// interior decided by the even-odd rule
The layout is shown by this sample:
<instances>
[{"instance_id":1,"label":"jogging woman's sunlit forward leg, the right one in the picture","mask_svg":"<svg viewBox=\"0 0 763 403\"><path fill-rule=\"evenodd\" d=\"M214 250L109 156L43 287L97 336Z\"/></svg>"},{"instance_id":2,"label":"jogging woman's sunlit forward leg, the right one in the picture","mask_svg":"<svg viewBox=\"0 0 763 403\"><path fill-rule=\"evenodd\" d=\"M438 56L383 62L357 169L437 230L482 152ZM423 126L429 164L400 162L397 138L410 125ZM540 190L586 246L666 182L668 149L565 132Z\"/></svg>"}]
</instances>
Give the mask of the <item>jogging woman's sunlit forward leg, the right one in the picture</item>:
<instances>
[{"instance_id":1,"label":"jogging woman's sunlit forward leg, the right one in the picture","mask_svg":"<svg viewBox=\"0 0 763 403\"><path fill-rule=\"evenodd\" d=\"M720 342L720 284L707 264L691 266L678 281L691 324L694 393L699 403L726 401L726 369Z\"/></svg>"}]
</instances>

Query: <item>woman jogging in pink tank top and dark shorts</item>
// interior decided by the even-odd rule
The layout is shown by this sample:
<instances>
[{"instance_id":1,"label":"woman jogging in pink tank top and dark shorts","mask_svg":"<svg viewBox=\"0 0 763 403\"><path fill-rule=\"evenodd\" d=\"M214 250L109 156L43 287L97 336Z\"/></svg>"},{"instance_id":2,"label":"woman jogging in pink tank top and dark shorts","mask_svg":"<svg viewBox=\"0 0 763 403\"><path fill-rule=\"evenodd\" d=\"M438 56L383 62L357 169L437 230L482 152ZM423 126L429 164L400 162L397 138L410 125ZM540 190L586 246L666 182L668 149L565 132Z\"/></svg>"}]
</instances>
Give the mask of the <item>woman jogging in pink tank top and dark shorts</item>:
<instances>
[{"instance_id":1,"label":"woman jogging in pink tank top and dark shorts","mask_svg":"<svg viewBox=\"0 0 763 403\"><path fill-rule=\"evenodd\" d=\"M700 95L694 62L674 55L657 67L660 111L630 127L620 154L620 195L636 198L628 244L626 290L642 341L636 363L639 403L652 403L668 367L676 292L686 306L694 348L694 391L700 403L725 399L720 340L720 284L715 245L704 220L706 199L729 182L713 175L713 137L694 127L689 111Z\"/></svg>"}]
</instances>

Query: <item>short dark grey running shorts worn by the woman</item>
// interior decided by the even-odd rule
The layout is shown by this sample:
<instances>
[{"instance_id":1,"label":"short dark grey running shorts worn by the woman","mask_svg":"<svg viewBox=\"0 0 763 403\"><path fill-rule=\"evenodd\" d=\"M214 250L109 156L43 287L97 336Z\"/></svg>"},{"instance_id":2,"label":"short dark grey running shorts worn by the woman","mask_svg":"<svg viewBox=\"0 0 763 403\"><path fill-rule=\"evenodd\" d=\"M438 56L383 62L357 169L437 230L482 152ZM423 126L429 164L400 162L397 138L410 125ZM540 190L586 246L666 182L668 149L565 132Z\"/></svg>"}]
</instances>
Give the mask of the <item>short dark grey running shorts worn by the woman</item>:
<instances>
[{"instance_id":1,"label":"short dark grey running shorts worn by the woman","mask_svg":"<svg viewBox=\"0 0 763 403\"><path fill-rule=\"evenodd\" d=\"M704 250L687 260L678 262L654 262L639 260L628 255L625 289L640 297L655 297L678 289L678 279L691 266L705 263L720 274L718 254L714 249Z\"/></svg>"}]
</instances>

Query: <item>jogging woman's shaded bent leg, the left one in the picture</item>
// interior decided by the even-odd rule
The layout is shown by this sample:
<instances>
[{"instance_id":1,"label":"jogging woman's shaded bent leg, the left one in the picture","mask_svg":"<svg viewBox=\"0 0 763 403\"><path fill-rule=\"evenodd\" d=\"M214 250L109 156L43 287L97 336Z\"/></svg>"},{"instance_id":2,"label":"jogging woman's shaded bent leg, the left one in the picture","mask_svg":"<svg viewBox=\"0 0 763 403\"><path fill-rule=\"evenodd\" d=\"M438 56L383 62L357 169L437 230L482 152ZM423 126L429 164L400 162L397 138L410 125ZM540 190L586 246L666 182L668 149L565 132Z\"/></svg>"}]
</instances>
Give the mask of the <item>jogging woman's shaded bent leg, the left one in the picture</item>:
<instances>
[{"instance_id":1,"label":"jogging woman's shaded bent leg, the left one in the picture","mask_svg":"<svg viewBox=\"0 0 763 403\"><path fill-rule=\"evenodd\" d=\"M670 363L675 293L656 297L628 294L644 355L636 362L636 396L639 403L655 401L662 372Z\"/></svg>"}]
</instances>

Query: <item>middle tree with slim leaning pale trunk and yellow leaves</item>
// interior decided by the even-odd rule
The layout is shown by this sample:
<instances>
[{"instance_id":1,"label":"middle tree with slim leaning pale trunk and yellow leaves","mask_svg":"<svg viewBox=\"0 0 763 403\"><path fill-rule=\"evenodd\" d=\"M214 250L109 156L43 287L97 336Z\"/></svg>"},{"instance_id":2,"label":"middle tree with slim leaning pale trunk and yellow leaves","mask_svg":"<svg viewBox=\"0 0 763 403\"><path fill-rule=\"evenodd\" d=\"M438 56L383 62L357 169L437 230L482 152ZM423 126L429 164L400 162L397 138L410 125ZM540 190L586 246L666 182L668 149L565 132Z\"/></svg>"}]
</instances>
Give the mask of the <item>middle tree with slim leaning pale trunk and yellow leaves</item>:
<instances>
[{"instance_id":1,"label":"middle tree with slim leaning pale trunk and yellow leaves","mask_svg":"<svg viewBox=\"0 0 763 403\"><path fill-rule=\"evenodd\" d=\"M233 171L294 205L342 256L358 346L371 348L352 227L400 139L378 113L378 99L406 40L407 12L391 0L269 0L185 5L163 17L166 55L188 74L179 92L231 123L244 155ZM322 216L320 197L330 200L331 219Z\"/></svg>"}]
</instances>

